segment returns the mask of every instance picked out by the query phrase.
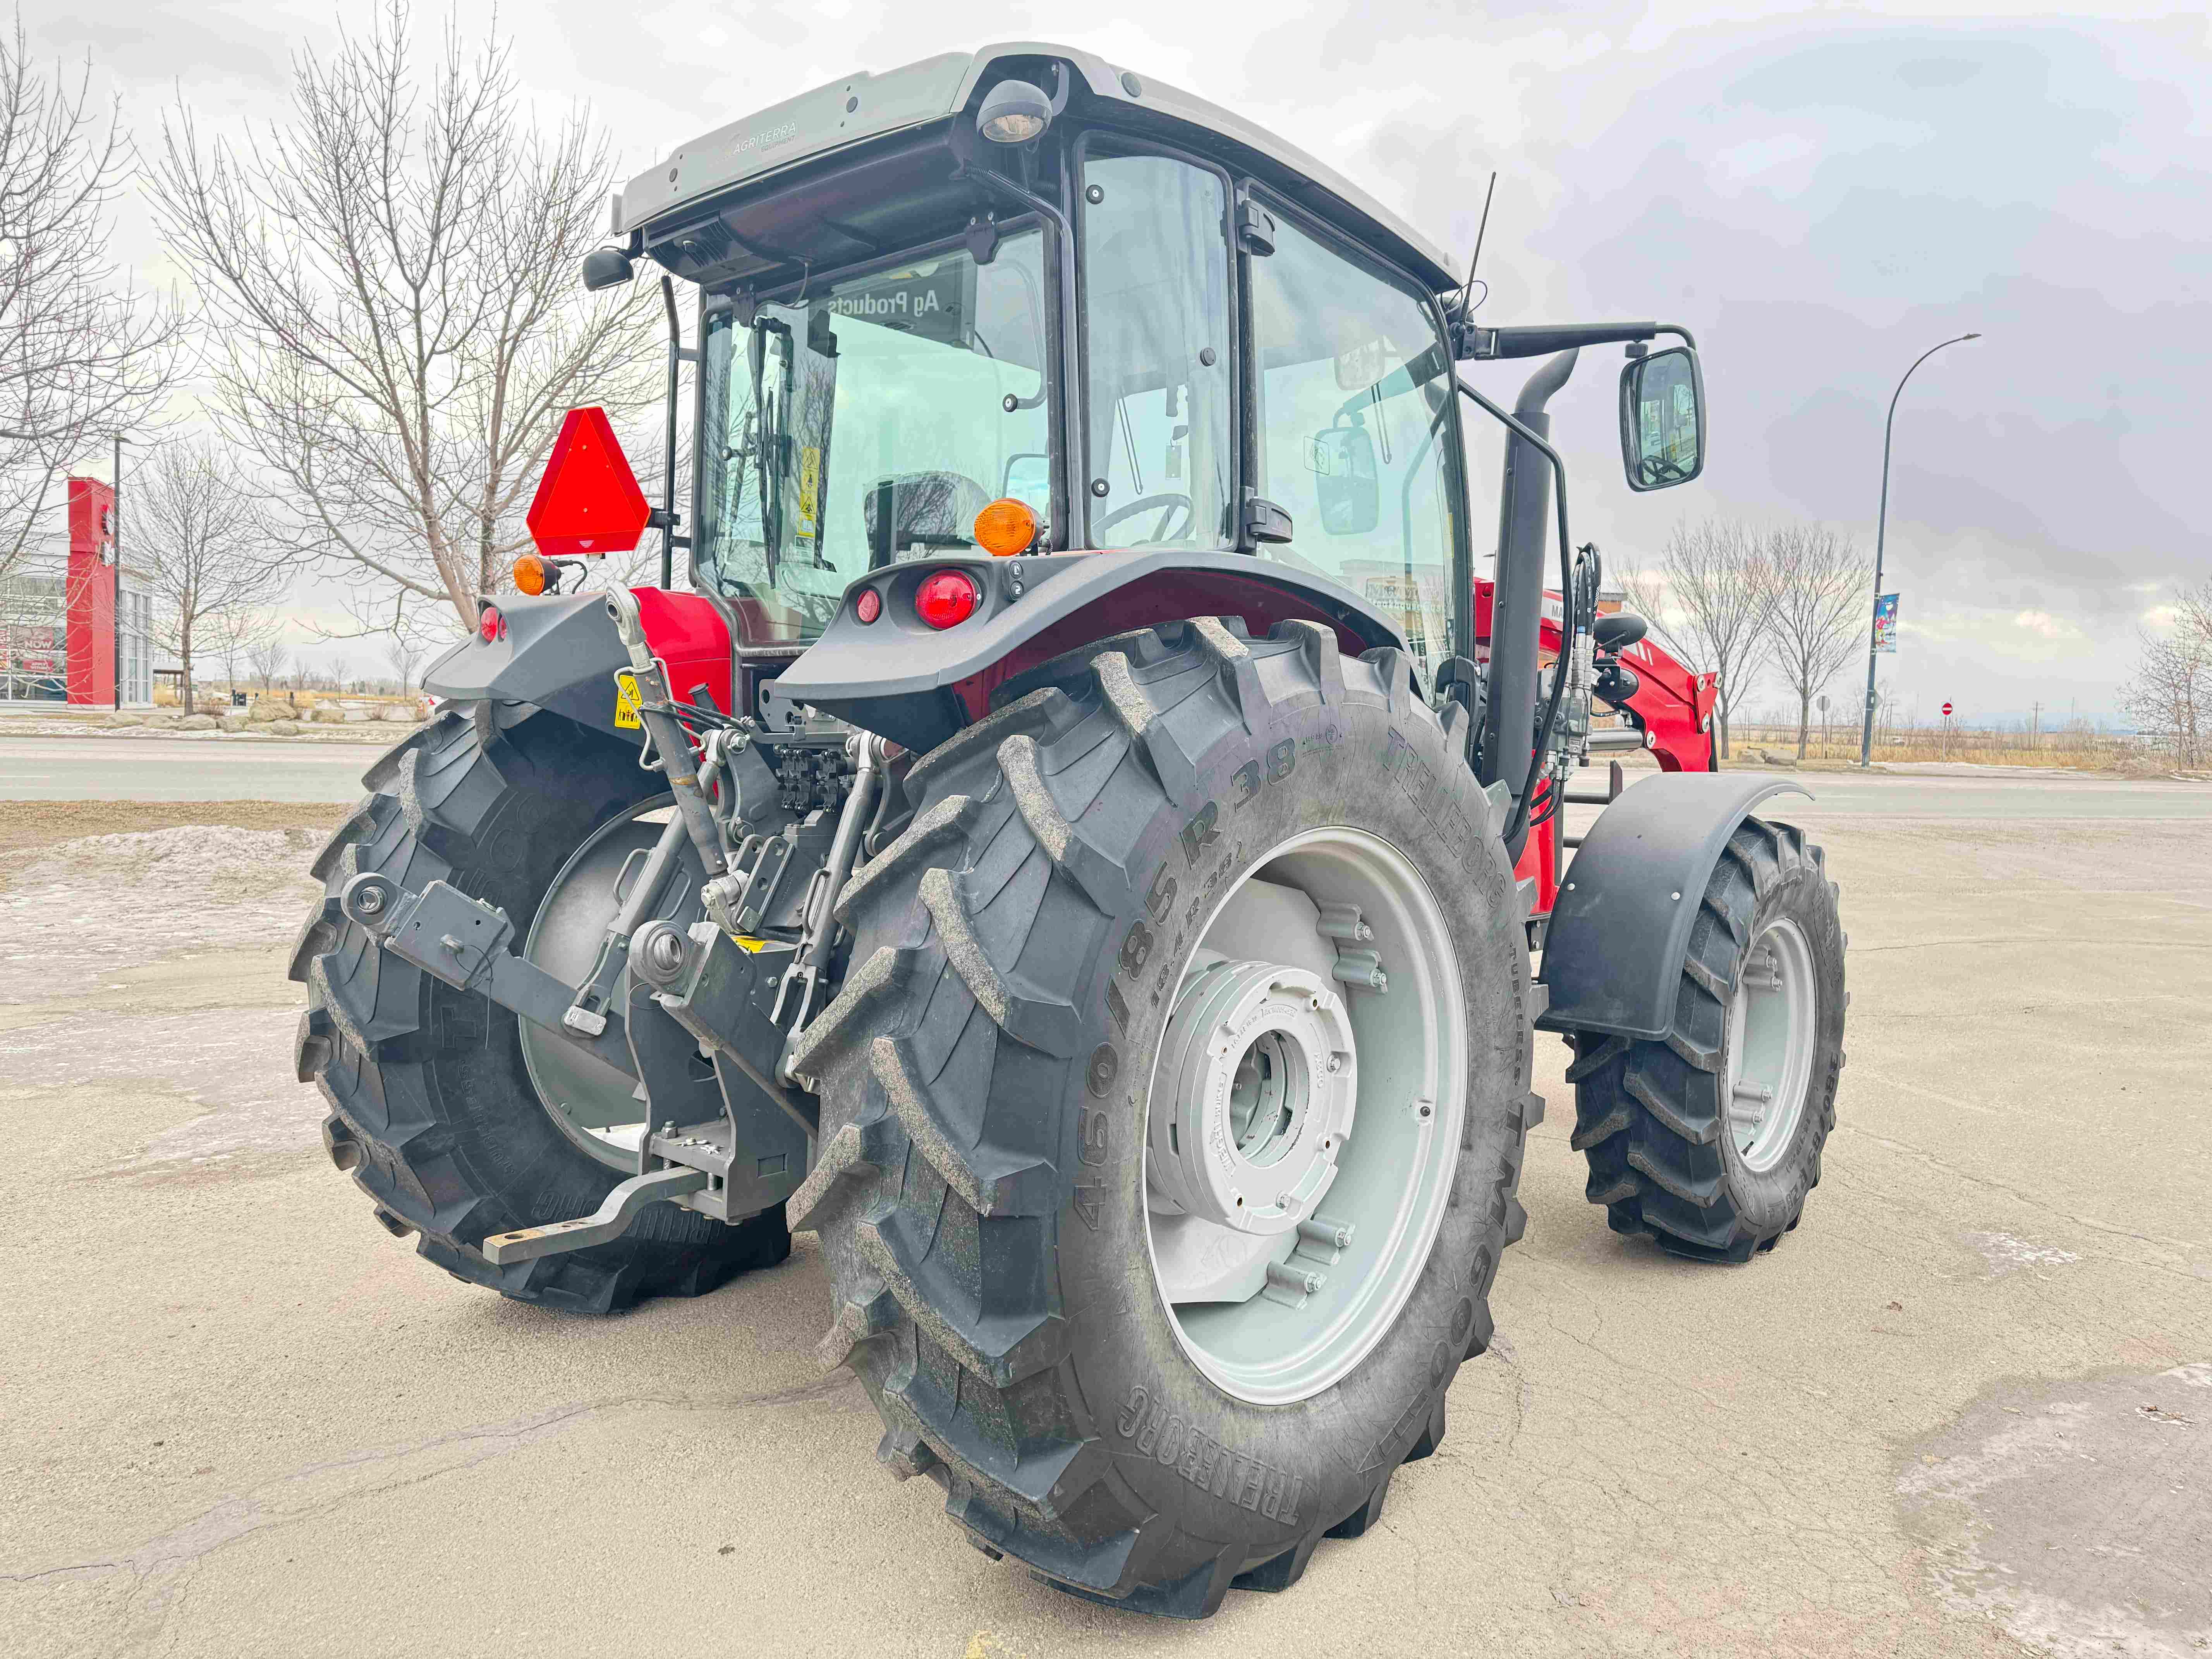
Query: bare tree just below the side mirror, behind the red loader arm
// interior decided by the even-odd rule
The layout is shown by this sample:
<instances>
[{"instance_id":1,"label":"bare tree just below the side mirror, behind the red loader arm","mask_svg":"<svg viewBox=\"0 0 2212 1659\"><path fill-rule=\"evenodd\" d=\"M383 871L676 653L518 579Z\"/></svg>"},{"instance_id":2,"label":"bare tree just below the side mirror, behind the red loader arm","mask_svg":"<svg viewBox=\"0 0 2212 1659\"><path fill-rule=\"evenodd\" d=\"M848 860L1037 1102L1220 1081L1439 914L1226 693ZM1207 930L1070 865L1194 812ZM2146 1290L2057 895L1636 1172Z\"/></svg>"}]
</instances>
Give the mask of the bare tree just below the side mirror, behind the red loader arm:
<instances>
[{"instance_id":1,"label":"bare tree just below the side mirror, behind the red loader arm","mask_svg":"<svg viewBox=\"0 0 2212 1659\"><path fill-rule=\"evenodd\" d=\"M1621 577L1652 633L1697 672L1719 675L1719 739L1728 759L1728 721L1752 688L1767 655L1774 611L1774 566L1765 538L1734 520L1677 524L1659 568Z\"/></svg>"}]
</instances>

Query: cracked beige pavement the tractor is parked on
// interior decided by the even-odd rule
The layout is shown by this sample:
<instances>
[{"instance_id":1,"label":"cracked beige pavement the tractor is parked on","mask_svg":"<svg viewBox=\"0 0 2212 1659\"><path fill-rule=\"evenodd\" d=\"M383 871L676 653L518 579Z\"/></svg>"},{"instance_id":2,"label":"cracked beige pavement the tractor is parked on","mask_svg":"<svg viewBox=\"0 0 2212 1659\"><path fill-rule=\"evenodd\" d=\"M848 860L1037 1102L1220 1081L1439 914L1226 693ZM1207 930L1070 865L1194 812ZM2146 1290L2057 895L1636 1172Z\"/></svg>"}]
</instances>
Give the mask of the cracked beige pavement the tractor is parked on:
<instances>
[{"instance_id":1,"label":"cracked beige pavement the tractor is parked on","mask_svg":"<svg viewBox=\"0 0 2212 1659\"><path fill-rule=\"evenodd\" d=\"M1542 1040L1449 1438L1201 1628L889 1480L807 1234L593 1323L376 1228L292 1077L319 810L9 854L0 1646L2203 1659L2212 787L1809 781L1854 1002L1805 1225L1732 1270L1610 1234Z\"/></svg>"}]
</instances>

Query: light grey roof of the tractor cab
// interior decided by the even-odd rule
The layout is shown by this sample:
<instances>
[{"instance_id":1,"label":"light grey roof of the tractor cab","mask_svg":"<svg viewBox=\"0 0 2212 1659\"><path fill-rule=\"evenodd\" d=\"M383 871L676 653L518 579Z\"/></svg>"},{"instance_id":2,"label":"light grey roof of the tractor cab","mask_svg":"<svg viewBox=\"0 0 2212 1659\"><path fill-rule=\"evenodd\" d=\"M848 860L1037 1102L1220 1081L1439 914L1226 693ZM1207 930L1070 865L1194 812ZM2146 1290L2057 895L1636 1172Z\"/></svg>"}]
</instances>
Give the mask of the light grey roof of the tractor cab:
<instances>
[{"instance_id":1,"label":"light grey roof of the tractor cab","mask_svg":"<svg viewBox=\"0 0 2212 1659\"><path fill-rule=\"evenodd\" d=\"M613 232L659 232L703 217L701 208L739 186L770 179L801 161L947 122L1004 75L1035 77L1057 60L1088 93L1084 119L1155 131L1225 161L1252 168L1329 217L1376 241L1436 292L1458 285L1451 257L1413 226L1334 168L1316 161L1234 111L1177 86L1124 71L1106 60L1037 40L925 58L880 75L858 73L787 97L757 115L719 126L675 150L661 166L630 179L615 197ZM655 239L648 234L648 241Z\"/></svg>"}]
</instances>

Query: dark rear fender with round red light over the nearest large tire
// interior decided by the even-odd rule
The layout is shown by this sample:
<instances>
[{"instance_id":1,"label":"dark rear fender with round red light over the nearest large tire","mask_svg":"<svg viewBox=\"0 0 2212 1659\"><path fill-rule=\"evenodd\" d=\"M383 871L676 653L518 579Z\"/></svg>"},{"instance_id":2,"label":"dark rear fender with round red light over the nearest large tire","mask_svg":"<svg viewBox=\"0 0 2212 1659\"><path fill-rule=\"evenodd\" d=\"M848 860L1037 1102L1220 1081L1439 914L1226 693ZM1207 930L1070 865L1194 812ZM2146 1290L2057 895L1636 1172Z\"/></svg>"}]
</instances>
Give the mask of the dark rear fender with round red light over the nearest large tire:
<instances>
[{"instance_id":1,"label":"dark rear fender with round red light over the nearest large tire","mask_svg":"<svg viewBox=\"0 0 2212 1659\"><path fill-rule=\"evenodd\" d=\"M967 622L931 628L914 588L933 571L975 577ZM854 615L860 588L883 613ZM914 752L933 750L991 710L1002 684L1066 650L1183 617L1321 622L1349 653L1405 646L1398 628L1349 588L1243 553L1062 553L1035 560L931 557L874 571L845 588L836 617L776 679L776 701L812 703Z\"/></svg>"}]
</instances>

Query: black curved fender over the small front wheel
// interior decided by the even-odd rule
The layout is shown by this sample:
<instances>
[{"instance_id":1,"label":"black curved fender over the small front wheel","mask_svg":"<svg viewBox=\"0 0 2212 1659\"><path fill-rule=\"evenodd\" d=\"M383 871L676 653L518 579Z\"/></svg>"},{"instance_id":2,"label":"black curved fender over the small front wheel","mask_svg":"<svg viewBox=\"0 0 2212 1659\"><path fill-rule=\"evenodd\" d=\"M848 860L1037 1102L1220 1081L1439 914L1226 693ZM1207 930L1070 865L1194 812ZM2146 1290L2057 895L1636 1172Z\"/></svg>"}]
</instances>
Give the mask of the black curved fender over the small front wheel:
<instances>
[{"instance_id":1,"label":"black curved fender over the small front wheel","mask_svg":"<svg viewBox=\"0 0 2212 1659\"><path fill-rule=\"evenodd\" d=\"M1559 880L1537 1024L1666 1037L1712 867L1745 814L1783 792L1812 799L1803 783L1741 772L1661 772L1599 812Z\"/></svg>"}]
</instances>

